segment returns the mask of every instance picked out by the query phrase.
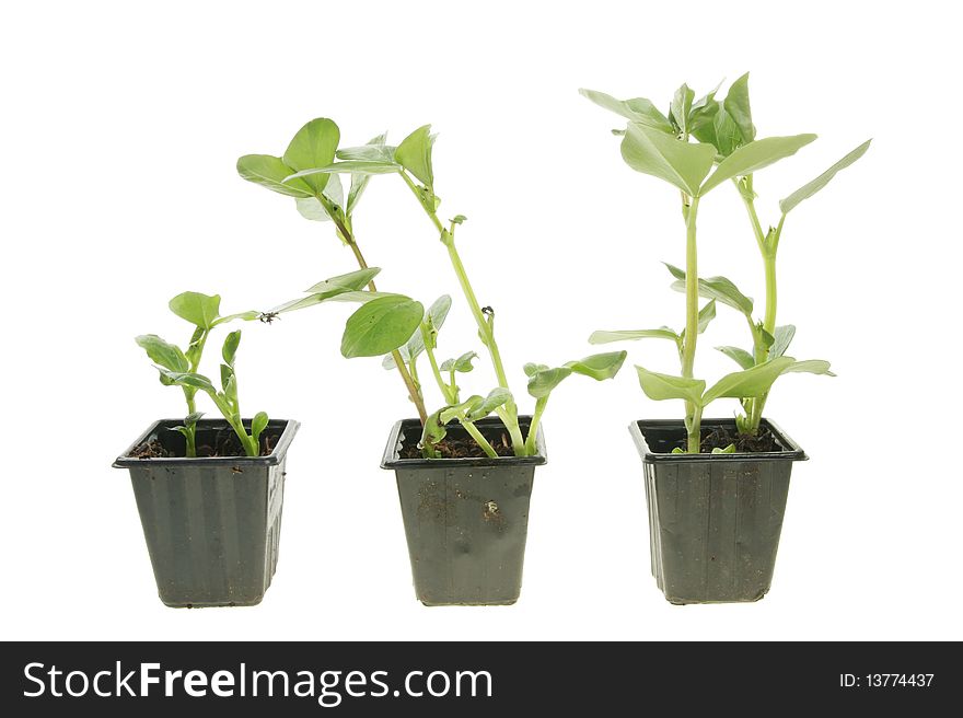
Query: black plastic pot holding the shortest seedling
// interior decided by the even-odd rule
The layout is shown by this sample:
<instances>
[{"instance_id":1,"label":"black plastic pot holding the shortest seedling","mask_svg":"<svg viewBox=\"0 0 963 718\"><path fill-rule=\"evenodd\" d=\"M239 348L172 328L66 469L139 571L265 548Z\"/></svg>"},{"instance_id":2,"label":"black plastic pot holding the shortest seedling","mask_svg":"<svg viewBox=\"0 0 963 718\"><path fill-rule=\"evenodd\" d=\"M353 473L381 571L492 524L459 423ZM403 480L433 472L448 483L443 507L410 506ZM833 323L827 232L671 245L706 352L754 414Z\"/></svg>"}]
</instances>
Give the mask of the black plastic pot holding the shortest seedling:
<instances>
[{"instance_id":1,"label":"black plastic pot holding the shortest seedling","mask_svg":"<svg viewBox=\"0 0 963 718\"><path fill-rule=\"evenodd\" d=\"M272 439L266 456L131 455L156 439L183 456L184 437L170 430L179 424L154 422L114 462L130 471L161 601L188 609L260 603L278 564L285 460L299 424L271 420L262 435ZM250 430L250 420L244 424ZM227 421L201 419L197 443L216 445L229 432Z\"/></svg>"}]
</instances>

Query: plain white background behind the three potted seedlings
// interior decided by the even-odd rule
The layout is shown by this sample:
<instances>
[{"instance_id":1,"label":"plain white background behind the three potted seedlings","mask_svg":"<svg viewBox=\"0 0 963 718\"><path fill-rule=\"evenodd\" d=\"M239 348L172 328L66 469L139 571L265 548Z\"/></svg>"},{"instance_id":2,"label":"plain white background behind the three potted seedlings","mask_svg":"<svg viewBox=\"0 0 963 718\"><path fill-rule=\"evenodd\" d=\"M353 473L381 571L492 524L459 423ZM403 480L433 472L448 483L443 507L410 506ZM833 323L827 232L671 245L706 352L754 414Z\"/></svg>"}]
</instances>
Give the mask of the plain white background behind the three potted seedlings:
<instances>
[{"instance_id":1,"label":"plain white background behind the three potted seedlings","mask_svg":"<svg viewBox=\"0 0 963 718\"><path fill-rule=\"evenodd\" d=\"M963 638L961 106L947 7L7 3L2 637ZM681 406L647 401L627 364L553 398L521 601L422 607L394 477L378 466L411 410L380 360L340 357L348 308L335 305L244 327L245 413L303 424L264 603L161 604L127 475L111 462L182 399L132 337L186 341L166 301L187 289L221 293L225 312L267 309L353 268L329 224L240 180L239 155L282 153L316 116L340 125L343 146L432 123L442 215L469 218L462 254L531 410L523 362L590 354L595 328L683 323L660 264L684 262L677 192L623 164L608 132L620 120L578 88L664 107L683 81L700 95L745 70L761 136L821 136L758 173L764 222L875 138L784 233L779 321L799 327L796 356L832 360L838 378L787 378L767 407L812 460L794 468L765 600L676 607L657 590L626 426ZM445 253L398 180L374 178L356 229L382 288L454 296L442 354L480 350ZM703 202L700 238L705 274L762 298L734 190ZM720 306L698 373L730 371L711 347L745 343ZM675 369L668 345L627 348L630 361ZM485 393L494 380L478 367L463 384Z\"/></svg>"}]
</instances>

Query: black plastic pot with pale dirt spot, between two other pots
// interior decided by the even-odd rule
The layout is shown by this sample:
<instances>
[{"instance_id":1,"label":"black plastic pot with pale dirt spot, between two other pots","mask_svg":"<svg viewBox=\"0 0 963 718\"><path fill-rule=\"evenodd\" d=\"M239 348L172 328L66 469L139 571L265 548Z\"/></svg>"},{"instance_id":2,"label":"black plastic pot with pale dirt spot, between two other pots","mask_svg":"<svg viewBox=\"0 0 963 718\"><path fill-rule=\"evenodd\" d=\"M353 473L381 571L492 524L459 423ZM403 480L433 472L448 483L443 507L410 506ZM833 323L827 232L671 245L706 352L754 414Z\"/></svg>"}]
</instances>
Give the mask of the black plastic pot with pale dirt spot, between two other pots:
<instances>
[{"instance_id":1,"label":"black plastic pot with pale dirt spot, between two other pots","mask_svg":"<svg viewBox=\"0 0 963 718\"><path fill-rule=\"evenodd\" d=\"M531 417L519 422L527 433ZM475 426L486 438L504 431L497 418ZM455 425L449 436L466 435ZM401 459L402 448L420 437L418 419L398 421L381 462L397 479L418 600L432 606L514 603L522 590L535 466L546 461L542 427L535 456Z\"/></svg>"}]
</instances>

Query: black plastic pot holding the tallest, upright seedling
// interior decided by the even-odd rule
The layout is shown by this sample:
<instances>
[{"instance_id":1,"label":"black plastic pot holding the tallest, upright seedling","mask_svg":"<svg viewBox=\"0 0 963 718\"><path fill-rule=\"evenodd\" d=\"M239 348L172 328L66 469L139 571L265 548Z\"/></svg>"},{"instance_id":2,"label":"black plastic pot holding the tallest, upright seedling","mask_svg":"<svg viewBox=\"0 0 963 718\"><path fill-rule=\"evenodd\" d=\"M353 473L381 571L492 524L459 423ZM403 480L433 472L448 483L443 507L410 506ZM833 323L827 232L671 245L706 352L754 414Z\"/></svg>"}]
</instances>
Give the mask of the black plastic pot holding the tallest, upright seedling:
<instances>
[{"instance_id":1,"label":"black plastic pot holding the tallest, upright seedling","mask_svg":"<svg viewBox=\"0 0 963 718\"><path fill-rule=\"evenodd\" d=\"M734 428L703 419L703 428ZM763 419L781 451L673 454L682 421L634 421L646 472L652 575L671 603L758 601L769 590L792 462L805 453Z\"/></svg>"}]
</instances>

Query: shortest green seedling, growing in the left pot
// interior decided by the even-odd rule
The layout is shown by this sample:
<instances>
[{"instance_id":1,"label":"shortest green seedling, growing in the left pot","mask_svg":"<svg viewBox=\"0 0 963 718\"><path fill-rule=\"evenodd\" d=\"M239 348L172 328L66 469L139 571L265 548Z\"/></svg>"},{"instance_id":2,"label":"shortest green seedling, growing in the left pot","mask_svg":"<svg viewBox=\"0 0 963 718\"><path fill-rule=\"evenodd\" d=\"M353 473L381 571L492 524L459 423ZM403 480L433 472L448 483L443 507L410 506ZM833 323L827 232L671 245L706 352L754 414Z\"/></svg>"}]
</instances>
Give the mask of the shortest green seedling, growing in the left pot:
<instances>
[{"instance_id":1,"label":"shortest green seedling, growing in the left pot","mask_svg":"<svg viewBox=\"0 0 963 718\"><path fill-rule=\"evenodd\" d=\"M184 399L187 403L187 416L184 419L184 425L176 427L176 430L184 435L187 444L186 454L188 458L193 459L197 456L197 420L202 416L202 413L197 410L197 392L198 390L207 392L210 381L206 379L204 382L194 380L183 381L183 378L199 377L197 370L200 367L200 360L204 357L204 349L207 345L208 337L214 327L234 320L256 320L262 314L260 312L250 311L221 316L220 296L201 294L200 292L184 292L177 294L170 301L169 306L174 314L194 325L194 333L190 336L187 348L182 349L174 344L165 341L155 334L144 334L137 337L135 340L138 346L147 352L147 356L154 362L160 371L161 383L165 386L181 386L184 392ZM230 352L231 360L228 361L227 352L229 347L225 343L224 361L233 377L233 357L234 352L237 350L236 343L240 341L241 335L237 332L232 333L229 335L229 339L232 336L235 338L231 339L231 341L234 343L233 350ZM201 377L201 379L204 378ZM227 386L224 393L227 394ZM232 396L236 402L236 381L233 384ZM228 418L227 415L225 418ZM237 421L240 426L240 418ZM232 426L234 425L232 424ZM244 439L242 438L241 441L246 450L247 444L245 444Z\"/></svg>"}]
</instances>

